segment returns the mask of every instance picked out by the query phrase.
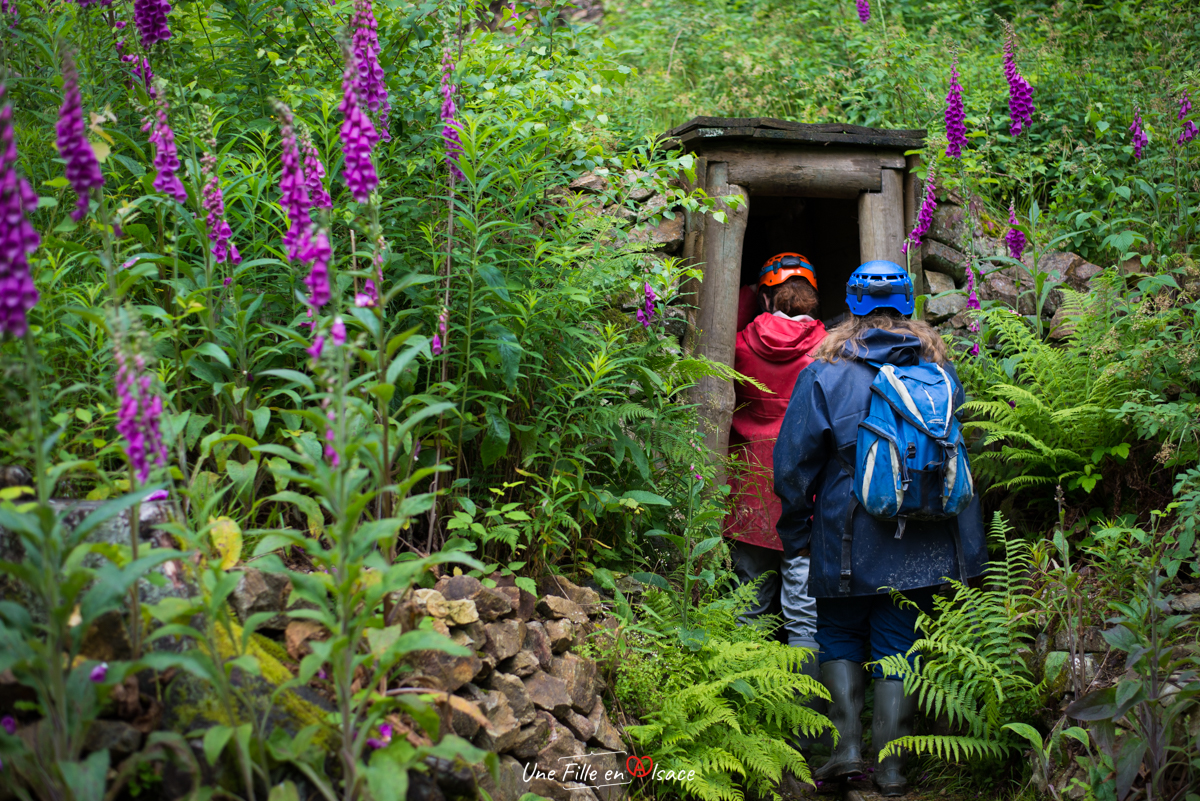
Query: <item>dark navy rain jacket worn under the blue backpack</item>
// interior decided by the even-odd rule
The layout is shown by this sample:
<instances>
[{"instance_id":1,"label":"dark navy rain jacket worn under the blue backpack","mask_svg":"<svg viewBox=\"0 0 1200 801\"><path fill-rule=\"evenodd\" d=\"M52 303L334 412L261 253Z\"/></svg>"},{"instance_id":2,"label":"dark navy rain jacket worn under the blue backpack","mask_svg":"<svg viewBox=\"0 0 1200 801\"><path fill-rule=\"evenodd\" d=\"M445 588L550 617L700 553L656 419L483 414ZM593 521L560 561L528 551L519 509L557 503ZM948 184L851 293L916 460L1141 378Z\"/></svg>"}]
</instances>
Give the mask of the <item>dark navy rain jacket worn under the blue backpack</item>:
<instances>
[{"instance_id":1,"label":"dark navy rain jacket worn under the blue backpack","mask_svg":"<svg viewBox=\"0 0 1200 801\"><path fill-rule=\"evenodd\" d=\"M816 598L841 595L841 538L853 489L852 474L842 468L838 452L852 471L858 423L866 418L876 374L865 362L916 365L920 355L920 341L910 333L871 329L863 344L865 349L857 354L847 348L842 361L817 361L800 373L775 442L775 494L784 507L776 529L786 556L811 548L809 595ZM954 380L958 408L962 385L952 365L946 365L946 371ZM895 538L895 523L878 520L860 506L853 520L850 595L877 595L888 588L911 590L961 578L949 520L910 520L901 540ZM968 577L979 576L988 548L978 493L959 514L959 537Z\"/></svg>"}]
</instances>

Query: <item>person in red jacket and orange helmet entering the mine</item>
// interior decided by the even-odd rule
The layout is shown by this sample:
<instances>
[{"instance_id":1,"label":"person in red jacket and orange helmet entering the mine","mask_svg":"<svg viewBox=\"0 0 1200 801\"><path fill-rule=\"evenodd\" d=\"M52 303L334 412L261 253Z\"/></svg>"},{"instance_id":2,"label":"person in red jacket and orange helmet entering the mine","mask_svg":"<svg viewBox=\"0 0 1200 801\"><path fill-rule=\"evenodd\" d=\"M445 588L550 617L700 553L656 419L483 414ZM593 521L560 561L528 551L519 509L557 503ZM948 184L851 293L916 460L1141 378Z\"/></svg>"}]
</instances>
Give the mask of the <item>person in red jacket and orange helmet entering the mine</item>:
<instances>
[{"instance_id":1,"label":"person in red jacket and orange helmet entering the mine","mask_svg":"<svg viewBox=\"0 0 1200 801\"><path fill-rule=\"evenodd\" d=\"M758 276L760 313L737 336L733 367L767 386L737 385L737 405L730 432L730 456L736 463L730 484L731 513L726 535L732 543L733 571L743 583L762 579L757 602L748 619L782 614L788 645L817 650L816 601L808 595L809 558L784 558L775 532L782 511L772 470L792 389L800 371L812 363L809 355L824 339L824 325L815 319L817 279L812 265L798 253L772 257ZM805 668L816 661L809 660ZM809 673L806 669L805 673ZM816 675L814 669L814 675Z\"/></svg>"}]
</instances>

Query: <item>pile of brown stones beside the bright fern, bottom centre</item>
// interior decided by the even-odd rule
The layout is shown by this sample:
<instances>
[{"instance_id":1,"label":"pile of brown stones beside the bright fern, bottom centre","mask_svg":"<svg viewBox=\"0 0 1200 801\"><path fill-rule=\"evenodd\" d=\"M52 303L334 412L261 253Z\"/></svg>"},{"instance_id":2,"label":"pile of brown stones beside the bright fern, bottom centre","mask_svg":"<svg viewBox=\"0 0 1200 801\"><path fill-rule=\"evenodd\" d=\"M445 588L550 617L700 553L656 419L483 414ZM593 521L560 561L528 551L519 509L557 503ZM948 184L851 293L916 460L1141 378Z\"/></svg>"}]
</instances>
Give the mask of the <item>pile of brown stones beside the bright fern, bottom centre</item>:
<instances>
[{"instance_id":1,"label":"pile of brown stones beside the bright fern, bottom centre","mask_svg":"<svg viewBox=\"0 0 1200 801\"><path fill-rule=\"evenodd\" d=\"M625 757L601 698L604 677L594 660L574 652L614 630L616 620L595 590L565 578L546 577L541 597L514 586L511 577L494 578L494 588L455 576L412 592L402 615L432 618L434 630L473 654L426 651L413 660L407 683L466 701L451 706L450 728L500 755L499 782L476 773L493 801L517 801L524 793L554 801L624 795L624 787L605 779L624 776ZM592 770L568 771L572 763ZM581 773L582 781L562 781Z\"/></svg>"}]
</instances>

